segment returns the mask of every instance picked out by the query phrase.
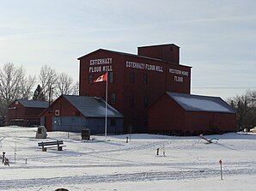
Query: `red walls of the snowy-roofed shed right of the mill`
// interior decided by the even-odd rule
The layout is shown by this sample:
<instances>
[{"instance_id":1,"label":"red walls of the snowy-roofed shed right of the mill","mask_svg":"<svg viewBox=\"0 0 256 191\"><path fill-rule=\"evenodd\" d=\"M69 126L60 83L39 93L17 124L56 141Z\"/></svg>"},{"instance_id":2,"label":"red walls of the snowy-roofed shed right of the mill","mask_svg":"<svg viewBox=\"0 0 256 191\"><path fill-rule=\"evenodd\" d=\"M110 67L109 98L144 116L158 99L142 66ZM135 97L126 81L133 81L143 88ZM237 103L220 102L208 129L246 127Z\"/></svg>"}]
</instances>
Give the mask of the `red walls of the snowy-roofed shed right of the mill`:
<instances>
[{"instance_id":1,"label":"red walls of the snowy-roofed shed right of the mill","mask_svg":"<svg viewBox=\"0 0 256 191\"><path fill-rule=\"evenodd\" d=\"M166 93L149 109L149 133L194 134L235 131L235 114L184 110Z\"/></svg>"}]
</instances>

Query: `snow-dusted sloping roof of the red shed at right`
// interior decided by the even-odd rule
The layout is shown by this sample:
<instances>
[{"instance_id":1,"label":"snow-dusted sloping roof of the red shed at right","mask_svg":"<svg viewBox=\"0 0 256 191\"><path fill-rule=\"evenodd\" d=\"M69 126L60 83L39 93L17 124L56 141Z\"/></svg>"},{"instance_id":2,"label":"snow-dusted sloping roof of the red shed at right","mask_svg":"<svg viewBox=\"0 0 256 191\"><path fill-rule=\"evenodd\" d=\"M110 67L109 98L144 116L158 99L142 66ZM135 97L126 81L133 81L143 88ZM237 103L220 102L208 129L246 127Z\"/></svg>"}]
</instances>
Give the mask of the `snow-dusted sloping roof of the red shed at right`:
<instances>
[{"instance_id":1,"label":"snow-dusted sloping roof of the red shed at right","mask_svg":"<svg viewBox=\"0 0 256 191\"><path fill-rule=\"evenodd\" d=\"M173 98L184 110L192 111L209 111L235 113L235 110L227 104L222 98L192 95L186 93L167 93Z\"/></svg>"}]
</instances>

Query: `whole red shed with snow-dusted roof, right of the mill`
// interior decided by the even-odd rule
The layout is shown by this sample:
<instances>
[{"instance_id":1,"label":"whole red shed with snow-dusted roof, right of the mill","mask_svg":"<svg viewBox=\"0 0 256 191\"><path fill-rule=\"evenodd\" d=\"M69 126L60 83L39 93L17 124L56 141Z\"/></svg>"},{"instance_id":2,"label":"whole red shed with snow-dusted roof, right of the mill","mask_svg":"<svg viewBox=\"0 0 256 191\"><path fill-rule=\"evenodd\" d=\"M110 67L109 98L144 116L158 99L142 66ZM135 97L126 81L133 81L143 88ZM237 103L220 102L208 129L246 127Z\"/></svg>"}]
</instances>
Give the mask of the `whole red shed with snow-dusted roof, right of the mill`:
<instances>
[{"instance_id":1,"label":"whole red shed with snow-dusted roof, right of the mill","mask_svg":"<svg viewBox=\"0 0 256 191\"><path fill-rule=\"evenodd\" d=\"M235 110L219 97L164 93L149 108L149 133L198 135L235 131Z\"/></svg>"}]
</instances>

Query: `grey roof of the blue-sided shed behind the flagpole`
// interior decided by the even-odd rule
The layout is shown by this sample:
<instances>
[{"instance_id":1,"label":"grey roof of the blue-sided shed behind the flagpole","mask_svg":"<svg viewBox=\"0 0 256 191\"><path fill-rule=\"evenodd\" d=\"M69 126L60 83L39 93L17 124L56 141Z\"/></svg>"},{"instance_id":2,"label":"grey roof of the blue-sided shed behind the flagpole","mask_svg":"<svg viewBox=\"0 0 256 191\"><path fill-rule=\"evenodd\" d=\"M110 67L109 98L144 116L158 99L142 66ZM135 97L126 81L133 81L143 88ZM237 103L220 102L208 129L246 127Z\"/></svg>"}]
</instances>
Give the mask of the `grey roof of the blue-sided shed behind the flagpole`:
<instances>
[{"instance_id":1,"label":"grey roof of the blue-sided shed behind the flagpole","mask_svg":"<svg viewBox=\"0 0 256 191\"><path fill-rule=\"evenodd\" d=\"M102 98L63 95L83 116L105 117L106 102ZM124 117L118 110L107 104L107 117Z\"/></svg>"}]
</instances>

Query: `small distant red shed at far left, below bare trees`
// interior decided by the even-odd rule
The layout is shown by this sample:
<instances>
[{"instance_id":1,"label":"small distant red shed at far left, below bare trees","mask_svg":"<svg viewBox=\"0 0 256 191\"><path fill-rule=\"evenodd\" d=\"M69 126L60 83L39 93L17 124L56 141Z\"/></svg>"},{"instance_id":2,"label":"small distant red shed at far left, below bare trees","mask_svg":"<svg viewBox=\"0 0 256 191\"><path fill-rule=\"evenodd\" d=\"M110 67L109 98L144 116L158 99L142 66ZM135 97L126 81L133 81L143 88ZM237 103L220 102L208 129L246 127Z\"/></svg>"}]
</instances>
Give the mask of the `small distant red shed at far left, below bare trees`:
<instances>
[{"instance_id":1,"label":"small distant red shed at far left, below bare trees","mask_svg":"<svg viewBox=\"0 0 256 191\"><path fill-rule=\"evenodd\" d=\"M18 99L8 107L8 124L18 126L40 125L40 113L49 106L46 101Z\"/></svg>"}]
</instances>

